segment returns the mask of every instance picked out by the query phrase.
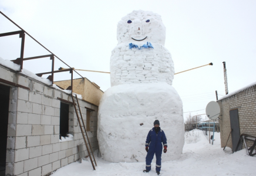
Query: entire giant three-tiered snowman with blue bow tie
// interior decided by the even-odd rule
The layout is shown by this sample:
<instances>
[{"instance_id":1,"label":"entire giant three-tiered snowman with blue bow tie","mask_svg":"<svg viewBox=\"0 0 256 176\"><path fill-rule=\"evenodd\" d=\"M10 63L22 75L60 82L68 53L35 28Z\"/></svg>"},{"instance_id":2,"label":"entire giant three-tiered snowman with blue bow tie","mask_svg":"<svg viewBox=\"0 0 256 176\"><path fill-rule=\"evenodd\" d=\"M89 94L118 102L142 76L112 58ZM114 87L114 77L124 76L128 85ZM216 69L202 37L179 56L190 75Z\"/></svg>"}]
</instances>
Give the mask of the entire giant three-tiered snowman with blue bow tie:
<instances>
[{"instance_id":1,"label":"entire giant three-tiered snowman with blue bow tie","mask_svg":"<svg viewBox=\"0 0 256 176\"><path fill-rule=\"evenodd\" d=\"M162 161L176 160L184 145L183 105L171 86L173 60L164 48L161 16L133 11L117 25L110 58L111 86L98 111L97 137L102 157L112 162L145 161L145 141L154 120L167 137Z\"/></svg>"}]
</instances>

